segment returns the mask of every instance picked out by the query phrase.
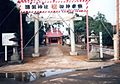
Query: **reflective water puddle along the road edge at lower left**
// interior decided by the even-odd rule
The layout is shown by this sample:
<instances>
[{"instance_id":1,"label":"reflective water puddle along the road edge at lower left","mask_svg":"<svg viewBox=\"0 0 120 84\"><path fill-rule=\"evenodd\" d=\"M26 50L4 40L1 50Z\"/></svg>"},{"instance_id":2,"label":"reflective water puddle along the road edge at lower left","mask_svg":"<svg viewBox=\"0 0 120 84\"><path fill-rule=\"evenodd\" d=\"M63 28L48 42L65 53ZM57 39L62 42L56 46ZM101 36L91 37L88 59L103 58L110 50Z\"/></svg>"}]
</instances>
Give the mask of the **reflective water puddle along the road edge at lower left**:
<instances>
[{"instance_id":1,"label":"reflective water puddle along the road edge at lower left","mask_svg":"<svg viewBox=\"0 0 120 84\"><path fill-rule=\"evenodd\" d=\"M31 82L43 77L75 71L74 69L47 69L41 72L0 73L0 79L11 79L13 81Z\"/></svg>"}]
</instances>

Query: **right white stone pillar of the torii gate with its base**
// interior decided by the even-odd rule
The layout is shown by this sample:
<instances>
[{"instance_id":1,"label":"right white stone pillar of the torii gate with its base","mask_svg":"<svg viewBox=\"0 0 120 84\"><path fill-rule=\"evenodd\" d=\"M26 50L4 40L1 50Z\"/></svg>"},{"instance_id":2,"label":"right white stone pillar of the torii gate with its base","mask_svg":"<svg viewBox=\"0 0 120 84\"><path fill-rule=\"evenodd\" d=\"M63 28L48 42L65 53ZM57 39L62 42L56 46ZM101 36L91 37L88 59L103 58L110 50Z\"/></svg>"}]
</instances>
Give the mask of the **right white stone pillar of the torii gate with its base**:
<instances>
[{"instance_id":1,"label":"right white stone pillar of the torii gate with its base","mask_svg":"<svg viewBox=\"0 0 120 84\"><path fill-rule=\"evenodd\" d=\"M77 52L75 52L74 21L72 19L70 20L70 41L71 41L70 55L77 55Z\"/></svg>"}]
</instances>

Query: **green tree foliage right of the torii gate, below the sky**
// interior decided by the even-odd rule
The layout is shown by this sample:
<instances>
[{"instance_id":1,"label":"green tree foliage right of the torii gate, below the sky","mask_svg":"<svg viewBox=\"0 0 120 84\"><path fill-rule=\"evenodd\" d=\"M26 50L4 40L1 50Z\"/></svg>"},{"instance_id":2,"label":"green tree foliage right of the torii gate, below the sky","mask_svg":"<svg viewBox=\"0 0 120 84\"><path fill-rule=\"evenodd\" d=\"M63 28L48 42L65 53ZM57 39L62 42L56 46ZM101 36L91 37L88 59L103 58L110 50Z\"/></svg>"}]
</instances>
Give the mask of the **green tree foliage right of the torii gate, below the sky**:
<instances>
[{"instance_id":1,"label":"green tree foliage right of the torii gate, below the sky","mask_svg":"<svg viewBox=\"0 0 120 84\"><path fill-rule=\"evenodd\" d=\"M86 16L81 16L81 21L75 21L75 34L86 36ZM103 45L111 46L112 41L112 24L107 22L105 15L98 12L96 17L88 16L89 24L89 34L90 31L94 30L96 35L99 35L99 32L103 33Z\"/></svg>"}]
</instances>

